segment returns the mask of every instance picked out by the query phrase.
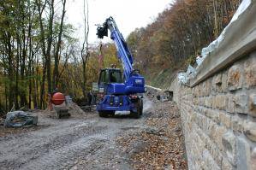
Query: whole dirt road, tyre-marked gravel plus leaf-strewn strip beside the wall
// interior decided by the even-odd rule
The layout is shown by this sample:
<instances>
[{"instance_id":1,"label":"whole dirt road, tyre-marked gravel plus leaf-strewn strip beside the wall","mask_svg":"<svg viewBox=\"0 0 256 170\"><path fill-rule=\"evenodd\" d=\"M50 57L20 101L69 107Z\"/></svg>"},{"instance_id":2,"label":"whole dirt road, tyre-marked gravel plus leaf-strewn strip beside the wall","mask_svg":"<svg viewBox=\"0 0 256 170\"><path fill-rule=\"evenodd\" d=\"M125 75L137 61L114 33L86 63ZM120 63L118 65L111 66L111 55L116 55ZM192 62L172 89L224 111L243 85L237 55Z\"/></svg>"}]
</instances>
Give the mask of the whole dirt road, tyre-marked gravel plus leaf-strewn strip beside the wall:
<instances>
[{"instance_id":1,"label":"whole dirt road, tyre-marked gravel plus leaf-strewn strip beside the wall","mask_svg":"<svg viewBox=\"0 0 256 170\"><path fill-rule=\"evenodd\" d=\"M186 169L176 111L146 98L140 119L39 114L42 128L0 137L0 169Z\"/></svg>"}]
</instances>

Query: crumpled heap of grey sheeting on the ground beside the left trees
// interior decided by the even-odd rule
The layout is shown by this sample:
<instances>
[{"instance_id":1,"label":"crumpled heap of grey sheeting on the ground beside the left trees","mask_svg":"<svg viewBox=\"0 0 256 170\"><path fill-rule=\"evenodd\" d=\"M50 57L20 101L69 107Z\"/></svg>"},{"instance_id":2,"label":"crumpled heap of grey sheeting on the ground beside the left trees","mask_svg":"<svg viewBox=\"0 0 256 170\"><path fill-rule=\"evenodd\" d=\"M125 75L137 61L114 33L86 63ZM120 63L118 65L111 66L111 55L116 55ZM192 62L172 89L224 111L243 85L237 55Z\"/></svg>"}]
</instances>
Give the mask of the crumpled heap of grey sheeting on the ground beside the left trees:
<instances>
[{"instance_id":1,"label":"crumpled heap of grey sheeting on the ground beside the left trees","mask_svg":"<svg viewBox=\"0 0 256 170\"><path fill-rule=\"evenodd\" d=\"M14 111L6 114L5 127L34 126L38 123L38 117L23 111Z\"/></svg>"}]
</instances>

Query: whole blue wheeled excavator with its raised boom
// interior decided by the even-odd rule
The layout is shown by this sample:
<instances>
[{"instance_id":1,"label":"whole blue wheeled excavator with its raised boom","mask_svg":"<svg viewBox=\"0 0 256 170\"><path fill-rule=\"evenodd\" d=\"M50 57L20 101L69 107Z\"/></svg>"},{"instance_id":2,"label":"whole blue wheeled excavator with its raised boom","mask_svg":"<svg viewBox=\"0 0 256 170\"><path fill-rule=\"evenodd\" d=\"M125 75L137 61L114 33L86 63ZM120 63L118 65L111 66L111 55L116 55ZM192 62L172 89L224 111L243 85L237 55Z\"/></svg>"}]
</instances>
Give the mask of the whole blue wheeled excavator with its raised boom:
<instances>
[{"instance_id":1,"label":"whole blue wheeled excavator with its raised boom","mask_svg":"<svg viewBox=\"0 0 256 170\"><path fill-rule=\"evenodd\" d=\"M115 115L116 111L130 111L134 118L140 118L143 112L142 94L146 92L145 79L140 75L140 70L134 69L134 58L112 17L98 26L98 38L107 37L109 30L110 38L116 45L118 59L122 62L123 73L116 67L100 70L98 92L101 99L97 104L98 114L100 117L107 117Z\"/></svg>"}]
</instances>

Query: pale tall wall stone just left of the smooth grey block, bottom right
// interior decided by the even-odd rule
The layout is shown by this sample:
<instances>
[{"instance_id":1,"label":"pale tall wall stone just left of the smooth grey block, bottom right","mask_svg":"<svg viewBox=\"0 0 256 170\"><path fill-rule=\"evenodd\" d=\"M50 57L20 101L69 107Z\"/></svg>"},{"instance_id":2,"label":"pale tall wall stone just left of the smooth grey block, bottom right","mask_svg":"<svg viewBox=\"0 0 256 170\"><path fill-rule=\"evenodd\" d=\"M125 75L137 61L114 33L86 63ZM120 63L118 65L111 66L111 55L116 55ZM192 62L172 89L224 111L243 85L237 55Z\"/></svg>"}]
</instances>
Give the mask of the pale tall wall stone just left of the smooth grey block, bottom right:
<instances>
[{"instance_id":1,"label":"pale tall wall stone just left of the smooth grey block, bottom right","mask_svg":"<svg viewBox=\"0 0 256 170\"><path fill-rule=\"evenodd\" d=\"M226 132L222 138L223 149L227 155L229 162L236 165L236 138L233 132Z\"/></svg>"}]
</instances>

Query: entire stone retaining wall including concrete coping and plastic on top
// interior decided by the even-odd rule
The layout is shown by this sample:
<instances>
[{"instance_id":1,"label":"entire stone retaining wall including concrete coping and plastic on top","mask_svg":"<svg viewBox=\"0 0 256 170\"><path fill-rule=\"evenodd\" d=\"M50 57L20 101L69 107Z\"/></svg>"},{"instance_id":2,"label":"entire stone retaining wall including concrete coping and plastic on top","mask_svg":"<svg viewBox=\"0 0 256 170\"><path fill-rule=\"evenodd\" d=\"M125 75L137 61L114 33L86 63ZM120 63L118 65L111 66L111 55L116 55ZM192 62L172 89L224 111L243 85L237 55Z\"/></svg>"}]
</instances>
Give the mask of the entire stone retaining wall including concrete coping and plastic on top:
<instances>
[{"instance_id":1,"label":"entire stone retaining wall including concrete coping and plastic on top","mask_svg":"<svg viewBox=\"0 0 256 170\"><path fill-rule=\"evenodd\" d=\"M256 1L231 23L188 85L170 85L189 169L256 170Z\"/></svg>"}]
</instances>

